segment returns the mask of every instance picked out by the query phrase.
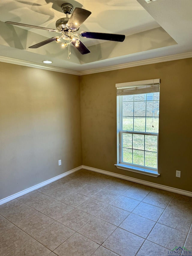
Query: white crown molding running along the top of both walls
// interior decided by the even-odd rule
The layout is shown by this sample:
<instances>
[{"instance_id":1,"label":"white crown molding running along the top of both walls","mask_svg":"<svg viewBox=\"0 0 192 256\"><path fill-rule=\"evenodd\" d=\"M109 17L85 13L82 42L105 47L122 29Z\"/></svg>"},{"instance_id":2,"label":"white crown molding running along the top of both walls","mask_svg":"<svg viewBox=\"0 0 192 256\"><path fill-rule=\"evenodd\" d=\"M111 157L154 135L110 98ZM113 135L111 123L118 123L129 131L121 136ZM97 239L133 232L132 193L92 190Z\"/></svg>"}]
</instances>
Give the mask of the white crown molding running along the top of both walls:
<instances>
[{"instance_id":1,"label":"white crown molding running along the top of both walls","mask_svg":"<svg viewBox=\"0 0 192 256\"><path fill-rule=\"evenodd\" d=\"M13 59L13 58L4 57L4 56L0 56L0 61L11 63L11 64L16 64L16 65L22 65L22 66L33 67L33 68L41 68L41 69L46 69L46 70L50 70L50 71L56 71L56 72L61 72L61 73L66 73L66 74L82 76L82 75L88 75L88 74L94 74L94 73L100 73L100 72L106 72L106 71L113 71L113 70L123 69L123 68L131 68L131 67L148 65L148 64L159 63L159 62L172 61L172 60L177 60L177 59L186 59L186 58L192 58L192 52L164 56L164 57L159 57L159 58L154 58L154 59L146 59L146 60L142 60L142 61L130 62L130 63L126 63L126 64L120 64L120 65L115 65L115 66L110 66L110 67L105 67L105 68L96 68L96 69L91 69L91 70L86 70L86 71L73 71L73 70L68 70L68 69L64 69L64 68L40 65L40 64L37 64L34 62L28 62L28 61Z\"/></svg>"}]
</instances>

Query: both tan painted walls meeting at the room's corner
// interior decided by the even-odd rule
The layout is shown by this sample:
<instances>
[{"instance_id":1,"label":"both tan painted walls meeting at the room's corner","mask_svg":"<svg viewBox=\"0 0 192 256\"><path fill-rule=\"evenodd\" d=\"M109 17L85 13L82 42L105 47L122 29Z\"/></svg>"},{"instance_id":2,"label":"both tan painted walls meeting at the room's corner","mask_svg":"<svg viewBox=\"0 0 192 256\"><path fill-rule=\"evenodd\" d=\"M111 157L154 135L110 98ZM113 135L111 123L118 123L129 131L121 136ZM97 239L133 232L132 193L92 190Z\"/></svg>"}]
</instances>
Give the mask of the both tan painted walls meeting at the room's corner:
<instances>
[{"instance_id":1,"label":"both tan painted walls meeting at the room's corner","mask_svg":"<svg viewBox=\"0 0 192 256\"><path fill-rule=\"evenodd\" d=\"M82 164L192 191L191 59L81 77L0 64L0 199ZM158 178L114 166L115 84L152 78L161 79Z\"/></svg>"}]
</instances>

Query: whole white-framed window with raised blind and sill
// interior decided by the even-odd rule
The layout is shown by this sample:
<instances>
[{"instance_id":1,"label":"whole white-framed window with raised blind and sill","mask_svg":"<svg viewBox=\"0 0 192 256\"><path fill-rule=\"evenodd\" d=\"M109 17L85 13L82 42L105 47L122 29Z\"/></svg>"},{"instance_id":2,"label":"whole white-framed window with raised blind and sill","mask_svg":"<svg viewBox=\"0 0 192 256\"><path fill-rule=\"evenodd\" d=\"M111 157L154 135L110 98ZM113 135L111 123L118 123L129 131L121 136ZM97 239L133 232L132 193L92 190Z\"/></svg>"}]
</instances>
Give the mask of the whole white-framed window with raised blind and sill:
<instances>
[{"instance_id":1,"label":"whole white-framed window with raised blind and sill","mask_svg":"<svg viewBox=\"0 0 192 256\"><path fill-rule=\"evenodd\" d=\"M158 176L160 79L116 84L117 164Z\"/></svg>"}]
</instances>

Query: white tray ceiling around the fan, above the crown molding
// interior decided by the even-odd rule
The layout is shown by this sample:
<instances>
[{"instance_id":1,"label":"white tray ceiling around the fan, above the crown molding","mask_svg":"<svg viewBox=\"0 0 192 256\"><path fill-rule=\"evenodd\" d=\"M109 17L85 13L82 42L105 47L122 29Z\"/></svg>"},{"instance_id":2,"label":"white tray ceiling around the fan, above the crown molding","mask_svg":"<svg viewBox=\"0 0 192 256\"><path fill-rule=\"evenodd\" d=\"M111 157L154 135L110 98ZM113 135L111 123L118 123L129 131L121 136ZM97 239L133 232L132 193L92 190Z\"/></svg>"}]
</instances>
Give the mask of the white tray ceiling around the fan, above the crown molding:
<instances>
[{"instance_id":1,"label":"white tray ceiling around the fan, above the crown molding","mask_svg":"<svg viewBox=\"0 0 192 256\"><path fill-rule=\"evenodd\" d=\"M52 42L38 49L28 47L56 36L56 32L29 29L5 24L5 21L25 23L55 29L55 22L65 14L61 5L91 11L79 31L125 34L124 42L109 42L82 38L91 50L84 56L72 46L67 48ZM159 58L192 51L192 1L156 0L1 0L0 55L71 71L106 68L130 62Z\"/></svg>"}]
</instances>

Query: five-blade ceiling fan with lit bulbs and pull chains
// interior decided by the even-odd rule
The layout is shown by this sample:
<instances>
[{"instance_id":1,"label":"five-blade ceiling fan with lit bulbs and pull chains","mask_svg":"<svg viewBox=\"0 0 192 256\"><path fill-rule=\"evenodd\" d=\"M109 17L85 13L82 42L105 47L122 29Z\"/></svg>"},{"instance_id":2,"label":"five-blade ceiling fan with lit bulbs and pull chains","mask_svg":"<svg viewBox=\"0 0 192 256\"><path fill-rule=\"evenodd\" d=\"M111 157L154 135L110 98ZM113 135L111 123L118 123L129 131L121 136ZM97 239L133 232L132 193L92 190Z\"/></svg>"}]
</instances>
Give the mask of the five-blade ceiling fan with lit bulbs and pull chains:
<instances>
[{"instance_id":1,"label":"five-blade ceiling fan with lit bulbs and pull chains","mask_svg":"<svg viewBox=\"0 0 192 256\"><path fill-rule=\"evenodd\" d=\"M102 40L117 41L117 42L123 42L125 39L125 35L118 35L118 34L85 32L85 31L82 31L78 34L77 31L79 30L79 27L89 17L91 12L88 10L82 9L82 8L75 8L73 11L73 6L71 4L67 4L67 3L61 5L61 10L64 14L66 14L66 17L58 19L56 21L55 26L57 29L49 29L49 28L32 26L32 25L16 23L16 22L11 22L11 21L6 21L5 23L61 33L60 36L55 36L55 37L49 38L49 39L42 41L38 44L34 44L34 45L30 46L29 48L38 48L45 44L49 44L52 41L59 42L63 39L66 41L63 44L63 46L68 47L68 57L67 57L68 59L70 59L70 57L69 57L70 44L73 44L73 46L76 47L76 49L81 54L90 53L90 50L88 50L88 48L80 41L79 36L81 36L83 38L94 38L94 39L102 39ZM69 18L69 14L71 14L71 13L72 13L72 15Z\"/></svg>"}]
</instances>

